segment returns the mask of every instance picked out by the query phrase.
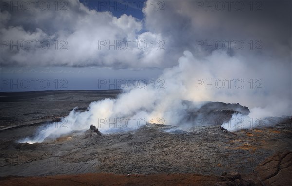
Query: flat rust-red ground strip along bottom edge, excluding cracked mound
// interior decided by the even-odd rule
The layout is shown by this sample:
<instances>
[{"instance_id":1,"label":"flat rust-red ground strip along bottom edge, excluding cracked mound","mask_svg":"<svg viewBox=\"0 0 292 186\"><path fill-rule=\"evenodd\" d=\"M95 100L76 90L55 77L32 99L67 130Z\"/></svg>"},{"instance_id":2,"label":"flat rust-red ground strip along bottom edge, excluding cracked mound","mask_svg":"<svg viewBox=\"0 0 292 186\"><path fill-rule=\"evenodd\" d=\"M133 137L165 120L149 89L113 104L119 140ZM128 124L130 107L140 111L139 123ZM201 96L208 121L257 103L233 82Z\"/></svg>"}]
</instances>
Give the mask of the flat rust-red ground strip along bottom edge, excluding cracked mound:
<instances>
[{"instance_id":1,"label":"flat rust-red ground strip along bottom edge, excluding cracked mound","mask_svg":"<svg viewBox=\"0 0 292 186\"><path fill-rule=\"evenodd\" d=\"M195 174L79 174L46 177L10 177L0 181L1 186L214 186L222 180L218 176ZM223 184L225 185L225 184Z\"/></svg>"}]
</instances>

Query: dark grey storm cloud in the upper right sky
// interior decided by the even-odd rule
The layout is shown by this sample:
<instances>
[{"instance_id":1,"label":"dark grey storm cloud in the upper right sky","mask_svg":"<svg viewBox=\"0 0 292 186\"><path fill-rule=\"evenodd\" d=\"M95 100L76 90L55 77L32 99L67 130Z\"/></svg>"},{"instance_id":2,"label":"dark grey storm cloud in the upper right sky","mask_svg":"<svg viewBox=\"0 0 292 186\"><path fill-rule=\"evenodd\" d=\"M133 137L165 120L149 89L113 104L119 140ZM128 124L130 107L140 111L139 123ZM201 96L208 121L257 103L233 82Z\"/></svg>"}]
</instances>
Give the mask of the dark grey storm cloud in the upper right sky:
<instances>
[{"instance_id":1,"label":"dark grey storm cloud in the upper right sky","mask_svg":"<svg viewBox=\"0 0 292 186\"><path fill-rule=\"evenodd\" d=\"M207 6L212 2L213 6ZM146 27L154 32L164 33L164 37L171 38L169 41L170 46L173 46L173 51L201 49L206 52L206 44L200 47L201 43L198 43L196 48L198 40L207 40L208 43L212 40L214 42L234 40L231 44L234 44L236 40L242 40L245 50L236 50L234 46L231 46L230 50L241 54L245 52L244 54L248 53L252 56L271 55L271 52L279 57L287 57L291 54L290 1L257 1L261 3L254 2L252 10L250 1L230 1L232 2L230 8L225 3L226 1L220 1L224 2L225 6L222 10L216 6L217 2L167 1L164 13L146 10ZM237 2L244 4L242 10L236 8ZM257 53L250 51L248 43L250 40L253 42L260 40L262 42L260 48L263 50ZM228 48L228 42L225 44L225 48ZM207 53L211 52L212 47L208 46L207 51Z\"/></svg>"}]
</instances>

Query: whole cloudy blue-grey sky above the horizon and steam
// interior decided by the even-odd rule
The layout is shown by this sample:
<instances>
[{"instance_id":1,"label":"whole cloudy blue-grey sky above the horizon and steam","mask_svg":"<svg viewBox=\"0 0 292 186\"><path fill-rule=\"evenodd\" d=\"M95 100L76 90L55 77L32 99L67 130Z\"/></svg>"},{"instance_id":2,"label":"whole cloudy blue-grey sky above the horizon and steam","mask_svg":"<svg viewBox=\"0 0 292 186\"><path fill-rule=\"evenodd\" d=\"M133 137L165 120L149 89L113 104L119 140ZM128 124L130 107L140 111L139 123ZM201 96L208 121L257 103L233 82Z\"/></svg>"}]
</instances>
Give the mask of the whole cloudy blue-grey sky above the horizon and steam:
<instances>
[{"instance_id":1,"label":"whole cloudy blue-grey sky above the horizon and steam","mask_svg":"<svg viewBox=\"0 0 292 186\"><path fill-rule=\"evenodd\" d=\"M291 1L3 0L0 5L0 91L118 89L133 81L152 86L150 81L159 83L190 53L193 87L209 77L226 85L225 79L242 79L245 87L260 84L264 96L289 98L292 92Z\"/></svg>"}]
</instances>

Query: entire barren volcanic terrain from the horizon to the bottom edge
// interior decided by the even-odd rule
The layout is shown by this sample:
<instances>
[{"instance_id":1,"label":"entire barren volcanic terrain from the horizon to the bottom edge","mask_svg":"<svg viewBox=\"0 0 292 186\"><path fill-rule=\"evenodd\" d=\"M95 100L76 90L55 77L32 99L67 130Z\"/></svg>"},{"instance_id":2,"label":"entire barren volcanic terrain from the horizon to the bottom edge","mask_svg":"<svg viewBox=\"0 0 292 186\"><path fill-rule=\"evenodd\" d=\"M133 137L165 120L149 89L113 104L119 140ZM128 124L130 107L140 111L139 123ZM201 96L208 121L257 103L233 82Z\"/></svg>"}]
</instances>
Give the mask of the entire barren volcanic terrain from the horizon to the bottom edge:
<instances>
[{"instance_id":1,"label":"entire barren volcanic terrain from the horizon to the bottom edge","mask_svg":"<svg viewBox=\"0 0 292 186\"><path fill-rule=\"evenodd\" d=\"M220 125L194 126L183 131L176 126L147 124L128 132L100 135L89 129L43 143L18 143L34 135L39 127L59 121L74 107L86 110L90 102L114 98L117 93L118 90L1 93L0 183L291 184L292 120L286 117L270 118L274 122L270 127L233 133L220 130ZM212 117L218 112L230 117L236 112L230 105L220 107L223 106L228 110L197 112L210 112Z\"/></svg>"}]
</instances>

